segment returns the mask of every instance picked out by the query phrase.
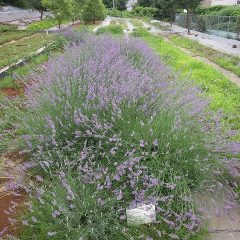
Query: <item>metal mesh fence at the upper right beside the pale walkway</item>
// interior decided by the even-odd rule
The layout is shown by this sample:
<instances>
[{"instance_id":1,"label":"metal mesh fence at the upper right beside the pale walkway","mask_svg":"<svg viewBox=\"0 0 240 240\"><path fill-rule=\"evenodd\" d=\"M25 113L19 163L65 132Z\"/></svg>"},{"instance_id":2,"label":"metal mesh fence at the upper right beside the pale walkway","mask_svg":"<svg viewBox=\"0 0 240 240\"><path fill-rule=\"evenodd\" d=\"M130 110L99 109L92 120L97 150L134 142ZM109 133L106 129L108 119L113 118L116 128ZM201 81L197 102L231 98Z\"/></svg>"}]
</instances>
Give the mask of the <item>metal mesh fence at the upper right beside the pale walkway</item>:
<instances>
[{"instance_id":1,"label":"metal mesh fence at the upper right beside the pale walkway","mask_svg":"<svg viewBox=\"0 0 240 240\"><path fill-rule=\"evenodd\" d=\"M191 30L240 40L240 17L191 14L189 19ZM187 27L186 14L177 14L175 24L181 27Z\"/></svg>"}]
</instances>

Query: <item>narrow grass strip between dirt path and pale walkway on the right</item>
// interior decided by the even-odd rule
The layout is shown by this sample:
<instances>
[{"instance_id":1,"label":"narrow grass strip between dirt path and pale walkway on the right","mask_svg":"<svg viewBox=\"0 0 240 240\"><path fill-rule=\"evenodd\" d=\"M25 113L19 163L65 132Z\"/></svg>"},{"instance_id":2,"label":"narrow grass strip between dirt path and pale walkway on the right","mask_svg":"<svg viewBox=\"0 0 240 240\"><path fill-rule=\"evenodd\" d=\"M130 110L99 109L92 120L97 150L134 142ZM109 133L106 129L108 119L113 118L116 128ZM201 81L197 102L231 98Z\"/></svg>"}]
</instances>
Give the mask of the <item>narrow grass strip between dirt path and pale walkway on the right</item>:
<instances>
[{"instance_id":1,"label":"narrow grass strip between dirt path and pale walkway on the right","mask_svg":"<svg viewBox=\"0 0 240 240\"><path fill-rule=\"evenodd\" d=\"M189 49L193 53L206 57L212 62L235 73L240 77L240 57L234 57L228 54L218 52L212 48L206 47L198 43L197 41L191 40L186 37L170 35L169 39L177 46Z\"/></svg>"}]
</instances>

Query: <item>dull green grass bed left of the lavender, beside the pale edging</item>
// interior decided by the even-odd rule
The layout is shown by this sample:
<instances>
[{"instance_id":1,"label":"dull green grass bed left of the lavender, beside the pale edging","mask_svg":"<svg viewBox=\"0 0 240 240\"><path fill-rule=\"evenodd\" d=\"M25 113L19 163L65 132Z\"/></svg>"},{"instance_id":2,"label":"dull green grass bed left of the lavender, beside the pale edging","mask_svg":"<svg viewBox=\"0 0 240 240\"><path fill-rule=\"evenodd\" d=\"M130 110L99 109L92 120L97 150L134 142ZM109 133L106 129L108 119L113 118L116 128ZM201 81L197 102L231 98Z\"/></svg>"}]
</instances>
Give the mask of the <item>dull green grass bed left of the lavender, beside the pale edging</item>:
<instances>
[{"instance_id":1,"label":"dull green grass bed left of the lavender, beside the pale edging","mask_svg":"<svg viewBox=\"0 0 240 240\"><path fill-rule=\"evenodd\" d=\"M0 51L0 68L15 63L20 58L28 58L39 48L46 46L52 40L51 35L37 34L28 39L22 39L11 45L4 45Z\"/></svg>"}]
</instances>

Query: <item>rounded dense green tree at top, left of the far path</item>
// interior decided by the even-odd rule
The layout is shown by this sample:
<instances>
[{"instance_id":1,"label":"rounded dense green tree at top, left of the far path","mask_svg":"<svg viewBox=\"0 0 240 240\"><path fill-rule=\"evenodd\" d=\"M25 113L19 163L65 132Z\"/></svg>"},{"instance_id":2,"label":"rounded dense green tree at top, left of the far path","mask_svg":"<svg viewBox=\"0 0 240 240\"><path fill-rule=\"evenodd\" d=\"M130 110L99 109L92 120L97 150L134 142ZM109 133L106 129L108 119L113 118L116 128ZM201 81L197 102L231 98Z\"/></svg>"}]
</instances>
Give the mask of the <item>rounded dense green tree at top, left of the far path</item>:
<instances>
[{"instance_id":1,"label":"rounded dense green tree at top, left of the far path","mask_svg":"<svg viewBox=\"0 0 240 240\"><path fill-rule=\"evenodd\" d=\"M103 20L106 17L106 8L101 0L87 0L83 8L83 20L93 22Z\"/></svg>"}]
</instances>

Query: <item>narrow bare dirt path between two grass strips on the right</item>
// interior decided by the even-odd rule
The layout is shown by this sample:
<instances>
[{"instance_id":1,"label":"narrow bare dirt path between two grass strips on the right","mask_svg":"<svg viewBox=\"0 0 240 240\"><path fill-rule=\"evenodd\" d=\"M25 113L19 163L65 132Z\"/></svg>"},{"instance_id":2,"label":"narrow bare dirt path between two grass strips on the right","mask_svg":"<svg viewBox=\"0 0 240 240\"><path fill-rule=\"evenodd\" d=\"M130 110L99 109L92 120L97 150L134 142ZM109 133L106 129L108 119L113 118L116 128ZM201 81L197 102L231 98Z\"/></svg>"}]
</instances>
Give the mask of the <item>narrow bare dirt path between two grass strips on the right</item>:
<instances>
[{"instance_id":1,"label":"narrow bare dirt path between two grass strips on the right","mask_svg":"<svg viewBox=\"0 0 240 240\"><path fill-rule=\"evenodd\" d=\"M141 21L143 26L147 29L150 29L148 30L149 32L155 34L155 35L161 35L161 37L163 37L166 41L168 42L171 42L164 34L164 31L148 24L148 23L145 23L143 21ZM183 52L187 53L188 55L190 55L191 57L201 61L201 62L204 62L204 63L207 63L209 64L210 66L212 66L213 68L215 68L216 70L218 70L219 72L221 72L226 78L228 78L231 82L237 84L238 86L240 86L240 78L234 74L233 72L229 71L229 70L226 70L225 68L222 68L221 66L217 65L216 63L210 61L209 59L205 58L205 57L202 57L202 56L199 56L199 55L196 55L194 53L192 53L191 51L189 51L188 49L186 48L183 48L183 47L180 47L180 46L177 46L175 45L173 42L171 42L176 48L179 48L181 49ZM240 239L240 238L239 238Z\"/></svg>"}]
</instances>

